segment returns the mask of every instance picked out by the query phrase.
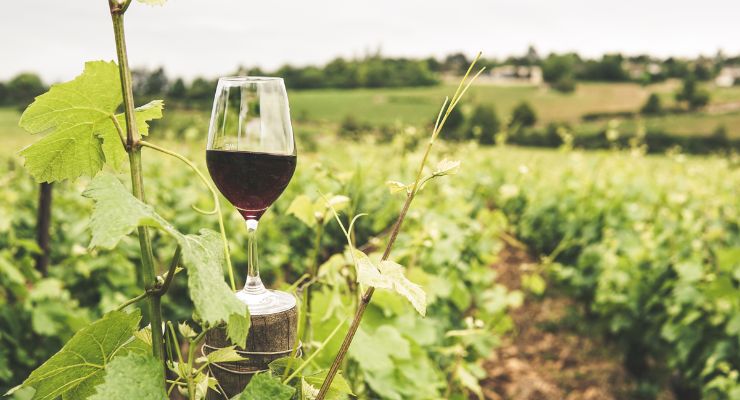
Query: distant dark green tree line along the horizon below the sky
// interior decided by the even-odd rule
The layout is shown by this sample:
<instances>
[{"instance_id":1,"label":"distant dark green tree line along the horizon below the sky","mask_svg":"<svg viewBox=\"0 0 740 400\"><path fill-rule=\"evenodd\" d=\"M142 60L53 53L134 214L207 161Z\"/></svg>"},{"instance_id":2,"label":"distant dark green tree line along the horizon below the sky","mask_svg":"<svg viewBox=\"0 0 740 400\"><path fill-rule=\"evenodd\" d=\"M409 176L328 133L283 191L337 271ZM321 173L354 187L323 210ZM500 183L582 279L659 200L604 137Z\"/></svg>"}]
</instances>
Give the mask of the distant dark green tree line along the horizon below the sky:
<instances>
[{"instance_id":1,"label":"distant dark green tree line along the horizon below the sky","mask_svg":"<svg viewBox=\"0 0 740 400\"><path fill-rule=\"evenodd\" d=\"M384 57L374 54L356 59L335 58L320 66L286 64L276 70L239 67L233 75L273 75L285 79L289 89L354 89L381 87L431 86L440 83L443 75L460 75L470 59L463 53L446 57L421 59ZM660 59L649 55L624 56L605 54L600 58L584 58L577 53L551 53L541 57L534 47L524 55L481 61L489 70L502 65L540 67L546 83L556 90L570 92L579 81L660 82L679 78L695 82L714 78L728 65L740 65L740 56L716 56L682 59ZM166 97L181 103L211 101L216 79L197 77L191 81L170 77L164 68L135 69L134 92L144 98ZM33 98L46 91L46 84L33 73L19 74L0 82L0 106L25 107Z\"/></svg>"}]
</instances>

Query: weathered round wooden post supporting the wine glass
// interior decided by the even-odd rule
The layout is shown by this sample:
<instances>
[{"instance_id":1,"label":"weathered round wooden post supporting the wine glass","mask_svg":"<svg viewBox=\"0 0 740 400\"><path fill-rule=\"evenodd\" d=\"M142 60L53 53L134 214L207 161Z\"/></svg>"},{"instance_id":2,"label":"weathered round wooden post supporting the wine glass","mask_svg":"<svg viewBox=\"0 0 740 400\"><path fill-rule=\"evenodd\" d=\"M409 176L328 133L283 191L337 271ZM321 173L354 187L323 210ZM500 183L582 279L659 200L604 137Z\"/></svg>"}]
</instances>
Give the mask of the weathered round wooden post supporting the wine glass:
<instances>
[{"instance_id":1,"label":"weathered round wooden post supporting the wine glass","mask_svg":"<svg viewBox=\"0 0 740 400\"><path fill-rule=\"evenodd\" d=\"M210 366L210 374L219 382L219 392L209 390L206 400L230 399L241 393L252 376L268 370L270 362L287 357L293 350L298 330L298 312L295 306L274 314L252 315L252 326L247 347L237 348L247 360L218 363ZM231 346L224 328L211 329L206 334L204 354Z\"/></svg>"}]
</instances>

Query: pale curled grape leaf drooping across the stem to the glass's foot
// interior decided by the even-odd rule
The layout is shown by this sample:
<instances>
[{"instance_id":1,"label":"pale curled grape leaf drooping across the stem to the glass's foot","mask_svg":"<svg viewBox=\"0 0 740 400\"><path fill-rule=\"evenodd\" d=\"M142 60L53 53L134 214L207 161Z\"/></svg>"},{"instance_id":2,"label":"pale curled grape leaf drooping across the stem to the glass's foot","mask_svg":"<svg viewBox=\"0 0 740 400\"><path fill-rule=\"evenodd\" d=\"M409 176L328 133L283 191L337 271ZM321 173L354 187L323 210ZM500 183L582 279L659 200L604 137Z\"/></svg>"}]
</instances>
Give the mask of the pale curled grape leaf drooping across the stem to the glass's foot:
<instances>
[{"instance_id":1,"label":"pale curled grape leaf drooping across the stem to the glass's foot","mask_svg":"<svg viewBox=\"0 0 740 400\"><path fill-rule=\"evenodd\" d=\"M223 279L223 242L216 232L203 229L198 235L180 233L111 175L94 178L83 195L95 201L90 220L91 247L111 249L138 226L168 233L182 248L190 297L200 318L209 326L228 322L227 334L232 343L246 345L249 311Z\"/></svg>"}]
</instances>

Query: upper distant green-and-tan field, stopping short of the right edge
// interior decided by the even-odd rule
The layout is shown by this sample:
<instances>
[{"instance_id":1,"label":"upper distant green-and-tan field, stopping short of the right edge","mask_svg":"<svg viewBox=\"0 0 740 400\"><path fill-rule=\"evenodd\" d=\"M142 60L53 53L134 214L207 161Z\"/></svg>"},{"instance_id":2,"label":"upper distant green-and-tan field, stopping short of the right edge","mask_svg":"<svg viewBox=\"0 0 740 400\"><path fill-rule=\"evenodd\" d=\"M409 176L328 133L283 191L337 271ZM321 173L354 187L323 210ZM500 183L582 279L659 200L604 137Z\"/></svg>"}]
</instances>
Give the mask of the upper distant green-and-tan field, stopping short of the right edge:
<instances>
[{"instance_id":1,"label":"upper distant green-and-tan field, stopping short of the right edge","mask_svg":"<svg viewBox=\"0 0 740 400\"><path fill-rule=\"evenodd\" d=\"M491 104L501 116L522 101L528 101L542 122L577 122L590 112L635 110L652 91L668 92L674 85L641 87L637 84L581 83L572 94L534 86L477 85L469 91L469 103ZM372 123L426 124L439 109L436 99L454 92L455 87L304 90L290 94L297 117L339 122L346 115Z\"/></svg>"}]
</instances>

